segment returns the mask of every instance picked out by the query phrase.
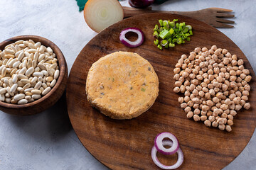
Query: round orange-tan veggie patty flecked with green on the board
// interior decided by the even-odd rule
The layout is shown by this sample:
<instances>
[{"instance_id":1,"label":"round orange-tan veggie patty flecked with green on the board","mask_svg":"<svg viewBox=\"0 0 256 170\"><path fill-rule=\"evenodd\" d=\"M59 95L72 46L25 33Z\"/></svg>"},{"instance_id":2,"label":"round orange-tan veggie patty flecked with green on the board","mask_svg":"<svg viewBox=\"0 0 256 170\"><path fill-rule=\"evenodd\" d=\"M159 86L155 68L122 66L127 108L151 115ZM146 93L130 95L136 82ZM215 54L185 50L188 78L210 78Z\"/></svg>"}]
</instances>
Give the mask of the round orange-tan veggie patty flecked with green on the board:
<instances>
[{"instance_id":1,"label":"round orange-tan veggie patty flecked with green on the board","mask_svg":"<svg viewBox=\"0 0 256 170\"><path fill-rule=\"evenodd\" d=\"M133 52L114 52L92 64L87 100L114 119L131 119L147 111L159 94L154 68Z\"/></svg>"}]
</instances>

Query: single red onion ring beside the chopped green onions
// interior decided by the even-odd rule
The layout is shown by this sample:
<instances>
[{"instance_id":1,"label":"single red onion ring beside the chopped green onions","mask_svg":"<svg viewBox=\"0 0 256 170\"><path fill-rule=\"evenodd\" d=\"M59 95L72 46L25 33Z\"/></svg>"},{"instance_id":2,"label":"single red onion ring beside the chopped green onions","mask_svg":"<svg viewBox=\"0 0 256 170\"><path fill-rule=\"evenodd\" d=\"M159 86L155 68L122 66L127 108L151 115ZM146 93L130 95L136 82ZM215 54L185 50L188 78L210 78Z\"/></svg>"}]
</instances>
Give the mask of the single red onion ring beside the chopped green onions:
<instances>
[{"instance_id":1,"label":"single red onion ring beside the chopped green onions","mask_svg":"<svg viewBox=\"0 0 256 170\"><path fill-rule=\"evenodd\" d=\"M133 32L133 33L137 33L138 35L138 39L135 41L130 41L128 40L125 35L128 32ZM142 43L144 42L144 33L142 32L142 30L140 30L139 28L125 28L124 30L122 30L122 32L119 35L119 40L127 47L138 47L139 45L142 45Z\"/></svg>"}]
</instances>

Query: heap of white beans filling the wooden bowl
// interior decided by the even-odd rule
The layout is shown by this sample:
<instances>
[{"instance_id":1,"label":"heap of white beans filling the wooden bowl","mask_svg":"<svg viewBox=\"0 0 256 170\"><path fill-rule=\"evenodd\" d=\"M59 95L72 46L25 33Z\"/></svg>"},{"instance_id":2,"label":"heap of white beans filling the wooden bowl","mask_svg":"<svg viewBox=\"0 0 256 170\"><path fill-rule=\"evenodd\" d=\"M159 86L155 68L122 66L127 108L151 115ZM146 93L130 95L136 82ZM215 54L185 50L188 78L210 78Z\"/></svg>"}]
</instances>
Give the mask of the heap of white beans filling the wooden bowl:
<instances>
[{"instance_id":1,"label":"heap of white beans filling the wooden bowl","mask_svg":"<svg viewBox=\"0 0 256 170\"><path fill-rule=\"evenodd\" d=\"M33 40L18 40L0 50L0 101L33 102L55 86L60 71L50 47Z\"/></svg>"}]
</instances>

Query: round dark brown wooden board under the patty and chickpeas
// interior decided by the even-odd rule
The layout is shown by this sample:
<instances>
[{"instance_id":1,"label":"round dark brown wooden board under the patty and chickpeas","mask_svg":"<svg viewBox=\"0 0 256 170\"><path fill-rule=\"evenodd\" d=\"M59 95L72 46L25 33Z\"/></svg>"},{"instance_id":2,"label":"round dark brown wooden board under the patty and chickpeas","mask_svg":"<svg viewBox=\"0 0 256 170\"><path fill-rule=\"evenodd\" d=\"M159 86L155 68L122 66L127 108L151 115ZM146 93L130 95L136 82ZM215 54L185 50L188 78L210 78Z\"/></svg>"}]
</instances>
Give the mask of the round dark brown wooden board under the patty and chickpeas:
<instances>
[{"instance_id":1,"label":"round dark brown wooden board under the patty and chickpeas","mask_svg":"<svg viewBox=\"0 0 256 170\"><path fill-rule=\"evenodd\" d=\"M174 48L159 50L154 45L153 28L159 19L186 22L193 26L191 41ZM119 41L119 33L124 28L142 29L146 38L137 48L125 47ZM230 30L233 31L233 30ZM252 108L244 108L234 118L232 132L207 128L202 122L186 118L179 106L174 89L174 67L181 55L188 55L195 47L217 45L244 60L250 69L250 103ZM154 105L132 120L114 120L106 117L87 101L85 82L92 65L105 55L117 51L137 52L148 60L159 77L159 96ZM184 162L179 169L222 169L238 157L255 130L256 114L255 74L245 55L235 43L219 30L201 21L186 16L169 13L150 13L110 26L85 45L70 72L67 89L68 113L73 128L82 145L102 164L110 169L159 169L151 159L154 137L160 132L171 132L178 138L184 154ZM177 156L162 156L161 162L174 164ZM86 158L85 158L86 159Z\"/></svg>"}]
</instances>

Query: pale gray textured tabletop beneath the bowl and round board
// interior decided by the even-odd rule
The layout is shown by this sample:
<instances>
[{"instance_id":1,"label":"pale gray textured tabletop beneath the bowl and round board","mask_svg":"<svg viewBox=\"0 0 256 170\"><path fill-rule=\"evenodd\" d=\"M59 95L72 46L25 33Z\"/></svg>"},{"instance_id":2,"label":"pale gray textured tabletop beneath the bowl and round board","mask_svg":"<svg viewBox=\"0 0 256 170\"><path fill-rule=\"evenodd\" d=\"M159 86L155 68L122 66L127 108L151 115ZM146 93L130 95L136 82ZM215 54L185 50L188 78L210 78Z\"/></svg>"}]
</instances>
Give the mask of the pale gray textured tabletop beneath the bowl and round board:
<instances>
[{"instance_id":1,"label":"pale gray textured tabletop beneath the bowl and round board","mask_svg":"<svg viewBox=\"0 0 256 170\"><path fill-rule=\"evenodd\" d=\"M127 1L121 3L128 6ZM78 12L75 0L0 0L0 6L0 41L27 34L48 38L62 50L69 70L82 47L96 35ZM255 0L169 0L153 8L170 11L208 7L233 9L235 28L219 30L240 47L255 69L255 6ZM62 98L38 115L20 117L0 113L0 169L107 169L78 140L64 103L65 98ZM225 167L225 170L230 169L256 169L255 134L242 153Z\"/></svg>"}]
</instances>

